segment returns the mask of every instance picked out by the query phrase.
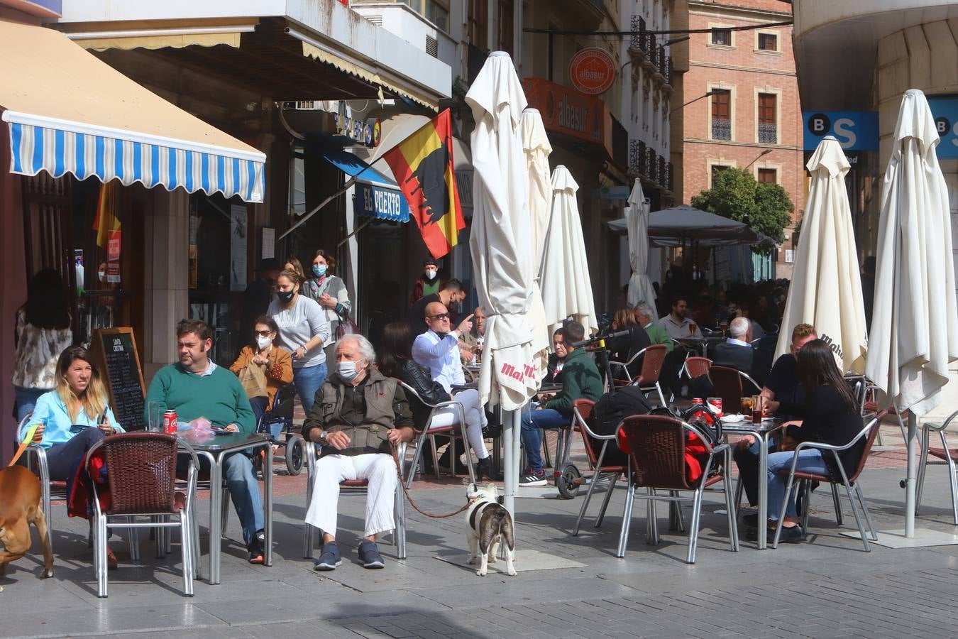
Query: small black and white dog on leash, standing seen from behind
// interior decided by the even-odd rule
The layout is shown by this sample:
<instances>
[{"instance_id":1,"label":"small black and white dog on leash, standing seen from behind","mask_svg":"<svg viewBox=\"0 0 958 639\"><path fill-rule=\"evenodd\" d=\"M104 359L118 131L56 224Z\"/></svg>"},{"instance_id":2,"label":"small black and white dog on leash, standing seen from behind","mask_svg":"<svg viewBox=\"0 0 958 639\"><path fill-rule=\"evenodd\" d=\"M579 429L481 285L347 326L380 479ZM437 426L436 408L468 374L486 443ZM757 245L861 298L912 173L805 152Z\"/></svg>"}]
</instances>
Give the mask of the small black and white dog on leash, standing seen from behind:
<instances>
[{"instance_id":1,"label":"small black and white dog on leash, standing seen from behind","mask_svg":"<svg viewBox=\"0 0 958 639\"><path fill-rule=\"evenodd\" d=\"M466 497L472 506L466 512L466 537L469 542L468 563L480 559L476 575L485 577L490 563L495 563L495 555L500 543L506 545L506 574L515 577L515 536L513 535L513 516L499 503L499 492L495 484L480 489L469 484Z\"/></svg>"}]
</instances>

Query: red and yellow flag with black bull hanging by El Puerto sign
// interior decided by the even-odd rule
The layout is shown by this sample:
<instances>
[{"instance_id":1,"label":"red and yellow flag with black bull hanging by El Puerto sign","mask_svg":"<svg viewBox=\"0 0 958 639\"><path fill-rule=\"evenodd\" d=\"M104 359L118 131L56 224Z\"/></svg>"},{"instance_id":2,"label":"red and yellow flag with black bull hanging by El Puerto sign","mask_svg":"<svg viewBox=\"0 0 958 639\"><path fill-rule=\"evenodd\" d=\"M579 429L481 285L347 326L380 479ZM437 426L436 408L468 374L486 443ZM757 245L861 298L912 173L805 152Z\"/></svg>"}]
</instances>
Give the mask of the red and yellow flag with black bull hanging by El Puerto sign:
<instances>
[{"instance_id":1,"label":"red and yellow flag with black bull hanging by El Puerto sign","mask_svg":"<svg viewBox=\"0 0 958 639\"><path fill-rule=\"evenodd\" d=\"M466 228L452 158L452 120L445 109L382 158L393 170L402 194L433 258L459 243Z\"/></svg>"}]
</instances>

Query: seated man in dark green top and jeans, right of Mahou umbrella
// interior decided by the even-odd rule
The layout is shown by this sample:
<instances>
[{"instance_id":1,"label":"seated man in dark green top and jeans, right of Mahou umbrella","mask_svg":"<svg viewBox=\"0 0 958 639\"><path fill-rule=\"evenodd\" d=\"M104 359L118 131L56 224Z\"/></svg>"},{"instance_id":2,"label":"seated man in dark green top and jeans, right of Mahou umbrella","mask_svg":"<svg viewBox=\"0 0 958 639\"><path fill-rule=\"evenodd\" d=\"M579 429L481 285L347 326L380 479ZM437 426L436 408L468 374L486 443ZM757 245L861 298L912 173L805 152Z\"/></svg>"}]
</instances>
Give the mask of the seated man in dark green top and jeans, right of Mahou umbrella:
<instances>
[{"instance_id":1,"label":"seated man in dark green top and jeans, right of Mahou umbrella","mask_svg":"<svg viewBox=\"0 0 958 639\"><path fill-rule=\"evenodd\" d=\"M603 383L592 358L584 349L572 345L585 338L579 322L569 322L556 331L552 345L562 363L562 390L551 399L539 403L535 410L522 415L522 445L526 448L529 468L519 478L519 486L545 486L542 468L542 434L540 428L559 428L572 421L572 402L576 399L596 400L602 397Z\"/></svg>"}]
</instances>

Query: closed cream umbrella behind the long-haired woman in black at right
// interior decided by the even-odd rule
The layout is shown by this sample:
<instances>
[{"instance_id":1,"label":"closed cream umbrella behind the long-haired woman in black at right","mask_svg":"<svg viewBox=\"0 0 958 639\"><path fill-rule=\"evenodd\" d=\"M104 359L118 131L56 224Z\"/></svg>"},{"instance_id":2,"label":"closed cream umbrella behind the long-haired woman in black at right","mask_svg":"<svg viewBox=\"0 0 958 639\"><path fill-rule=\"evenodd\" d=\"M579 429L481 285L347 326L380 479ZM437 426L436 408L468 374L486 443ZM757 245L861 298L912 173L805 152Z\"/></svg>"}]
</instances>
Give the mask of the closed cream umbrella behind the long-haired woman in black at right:
<instances>
[{"instance_id":1,"label":"closed cream umbrella behind the long-haired woman in black at right","mask_svg":"<svg viewBox=\"0 0 958 639\"><path fill-rule=\"evenodd\" d=\"M851 165L838 140L829 135L806 166L811 173L809 202L775 356L788 352L792 327L810 324L832 345L842 373L860 374L865 370L868 330L845 191L845 173Z\"/></svg>"}]
</instances>

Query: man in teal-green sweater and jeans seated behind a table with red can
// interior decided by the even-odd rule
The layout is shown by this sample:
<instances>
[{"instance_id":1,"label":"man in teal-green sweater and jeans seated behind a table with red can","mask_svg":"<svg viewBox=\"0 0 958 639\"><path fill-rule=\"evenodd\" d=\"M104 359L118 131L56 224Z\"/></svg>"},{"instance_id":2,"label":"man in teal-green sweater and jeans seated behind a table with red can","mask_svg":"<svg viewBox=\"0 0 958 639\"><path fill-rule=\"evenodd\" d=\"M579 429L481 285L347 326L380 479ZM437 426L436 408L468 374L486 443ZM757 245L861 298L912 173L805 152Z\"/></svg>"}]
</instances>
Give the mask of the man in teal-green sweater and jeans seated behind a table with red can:
<instances>
[{"instance_id":1,"label":"man in teal-green sweater and jeans seated behind a table with red can","mask_svg":"<svg viewBox=\"0 0 958 639\"><path fill-rule=\"evenodd\" d=\"M211 348L213 331L206 322L180 321L176 327L179 361L153 376L146 404L159 402L164 405L164 410L176 411L178 422L192 422L203 417L214 428L252 433L256 430L256 419L246 391L238 377L210 359ZM238 452L226 457L223 468L226 485L242 524L249 562L262 563L265 541L262 497L253 463Z\"/></svg>"}]
</instances>

